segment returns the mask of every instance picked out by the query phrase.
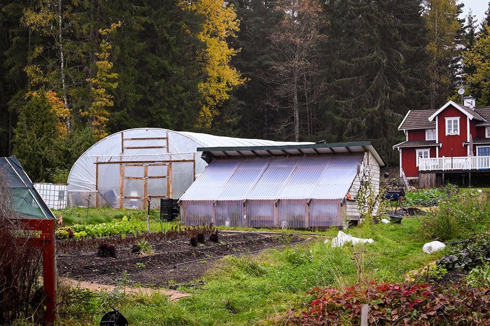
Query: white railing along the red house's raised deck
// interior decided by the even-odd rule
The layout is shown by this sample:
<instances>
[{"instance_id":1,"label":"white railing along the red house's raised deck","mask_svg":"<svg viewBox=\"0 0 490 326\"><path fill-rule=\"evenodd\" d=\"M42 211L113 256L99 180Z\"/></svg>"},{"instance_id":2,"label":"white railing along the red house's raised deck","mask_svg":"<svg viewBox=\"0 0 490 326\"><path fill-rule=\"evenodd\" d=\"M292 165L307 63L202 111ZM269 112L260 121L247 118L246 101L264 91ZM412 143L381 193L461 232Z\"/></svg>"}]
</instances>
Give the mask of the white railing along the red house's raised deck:
<instances>
[{"instance_id":1,"label":"white railing along the red house's raised deck","mask_svg":"<svg viewBox=\"0 0 490 326\"><path fill-rule=\"evenodd\" d=\"M490 156L420 158L418 169L420 171L490 169Z\"/></svg>"}]
</instances>

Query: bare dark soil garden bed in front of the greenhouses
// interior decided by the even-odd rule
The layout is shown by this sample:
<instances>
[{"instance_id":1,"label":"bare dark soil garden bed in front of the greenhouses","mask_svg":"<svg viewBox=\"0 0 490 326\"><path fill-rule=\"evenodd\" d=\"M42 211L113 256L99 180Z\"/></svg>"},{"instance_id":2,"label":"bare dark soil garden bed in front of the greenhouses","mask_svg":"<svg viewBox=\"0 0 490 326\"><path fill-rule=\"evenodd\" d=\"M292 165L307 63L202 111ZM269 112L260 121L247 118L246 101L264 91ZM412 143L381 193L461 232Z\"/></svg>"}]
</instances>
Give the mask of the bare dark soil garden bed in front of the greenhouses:
<instances>
[{"instance_id":1,"label":"bare dark soil garden bed in front of the greenhouses","mask_svg":"<svg viewBox=\"0 0 490 326\"><path fill-rule=\"evenodd\" d=\"M60 256L58 272L72 279L92 281L100 284L121 282L124 271L130 282L141 285L176 287L175 284L189 282L201 277L216 260L205 263L194 262L174 265L196 259L248 253L304 240L298 235L266 235L257 233L220 233L219 243L206 240L192 247L189 241L152 243L154 255L143 256L131 253L128 248L118 248L117 257L97 255ZM143 263L145 267L138 263Z\"/></svg>"}]
</instances>

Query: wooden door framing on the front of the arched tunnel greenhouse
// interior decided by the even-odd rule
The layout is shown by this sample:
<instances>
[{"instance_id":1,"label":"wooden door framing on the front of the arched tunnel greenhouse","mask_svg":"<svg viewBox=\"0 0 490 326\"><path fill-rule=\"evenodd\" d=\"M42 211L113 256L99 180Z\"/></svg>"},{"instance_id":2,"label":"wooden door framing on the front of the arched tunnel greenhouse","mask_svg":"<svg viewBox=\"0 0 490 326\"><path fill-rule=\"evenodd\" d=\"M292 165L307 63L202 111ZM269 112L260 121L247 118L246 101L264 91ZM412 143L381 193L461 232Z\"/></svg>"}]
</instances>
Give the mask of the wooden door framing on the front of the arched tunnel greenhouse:
<instances>
[{"instance_id":1,"label":"wooden door framing on the front of the arched tunnel greenhouse","mask_svg":"<svg viewBox=\"0 0 490 326\"><path fill-rule=\"evenodd\" d=\"M167 196L151 196L151 198L172 198L172 163L180 162L193 162L194 163L194 178L196 178L196 160L172 160L172 161L113 161L113 162L95 162L96 164L96 190L98 191L98 166L99 164L119 164L119 205L123 208L123 199L146 199L147 198L147 182L148 179L164 179L167 178ZM124 177L124 166L144 166L144 177ZM148 166L168 165L166 176L148 176ZM143 197L129 197L124 196L124 179L144 179L144 196ZM146 208L146 200L143 200L143 207ZM98 207L98 195L96 197L96 207Z\"/></svg>"}]
</instances>

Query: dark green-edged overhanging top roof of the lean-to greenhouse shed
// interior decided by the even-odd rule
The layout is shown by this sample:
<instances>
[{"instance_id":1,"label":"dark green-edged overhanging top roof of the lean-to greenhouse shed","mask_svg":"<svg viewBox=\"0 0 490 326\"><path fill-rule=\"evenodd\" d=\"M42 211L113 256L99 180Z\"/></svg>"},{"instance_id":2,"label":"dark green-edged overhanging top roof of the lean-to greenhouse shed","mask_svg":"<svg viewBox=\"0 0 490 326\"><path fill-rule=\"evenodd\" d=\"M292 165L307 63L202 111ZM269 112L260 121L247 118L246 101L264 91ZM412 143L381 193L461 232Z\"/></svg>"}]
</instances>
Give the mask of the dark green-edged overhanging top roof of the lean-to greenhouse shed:
<instances>
[{"instance_id":1,"label":"dark green-edged overhanging top roof of the lean-to greenhouse shed","mask_svg":"<svg viewBox=\"0 0 490 326\"><path fill-rule=\"evenodd\" d=\"M304 154L353 154L369 151L380 166L386 163L370 141L351 141L336 143L295 144L281 146L234 146L234 147L198 147L197 151L204 152L202 158L210 162L213 157L265 157L289 156Z\"/></svg>"}]
</instances>

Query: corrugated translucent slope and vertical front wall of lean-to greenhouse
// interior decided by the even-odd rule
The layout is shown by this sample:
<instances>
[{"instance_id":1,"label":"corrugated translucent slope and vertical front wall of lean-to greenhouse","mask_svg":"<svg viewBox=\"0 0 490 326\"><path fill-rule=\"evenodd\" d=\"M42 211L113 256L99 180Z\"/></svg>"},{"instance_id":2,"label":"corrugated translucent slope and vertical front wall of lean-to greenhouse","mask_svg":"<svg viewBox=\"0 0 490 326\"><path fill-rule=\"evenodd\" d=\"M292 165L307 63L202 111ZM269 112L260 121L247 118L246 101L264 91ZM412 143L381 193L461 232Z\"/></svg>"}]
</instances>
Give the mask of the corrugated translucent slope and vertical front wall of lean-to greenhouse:
<instances>
[{"instance_id":1,"label":"corrugated translucent slope and vertical front wall of lean-to greenhouse","mask_svg":"<svg viewBox=\"0 0 490 326\"><path fill-rule=\"evenodd\" d=\"M180 198L182 222L230 227L342 225L341 202L364 155L212 160Z\"/></svg>"}]
</instances>

